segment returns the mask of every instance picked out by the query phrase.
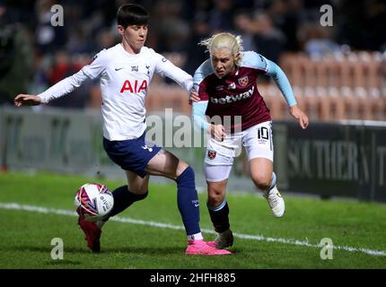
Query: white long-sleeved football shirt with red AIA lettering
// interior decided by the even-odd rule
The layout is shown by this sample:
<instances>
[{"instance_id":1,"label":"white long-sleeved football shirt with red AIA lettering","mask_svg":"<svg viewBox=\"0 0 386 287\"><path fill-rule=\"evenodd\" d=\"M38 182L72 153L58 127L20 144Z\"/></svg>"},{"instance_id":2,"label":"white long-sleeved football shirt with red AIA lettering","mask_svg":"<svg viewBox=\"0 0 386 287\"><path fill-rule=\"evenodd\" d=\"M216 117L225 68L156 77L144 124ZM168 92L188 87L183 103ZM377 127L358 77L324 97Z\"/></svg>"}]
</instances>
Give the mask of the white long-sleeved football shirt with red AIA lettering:
<instances>
[{"instance_id":1,"label":"white long-sleeved football shirt with red AIA lettering","mask_svg":"<svg viewBox=\"0 0 386 287\"><path fill-rule=\"evenodd\" d=\"M193 78L179 67L143 47L138 54L129 54L121 44L103 49L82 70L56 83L39 94L43 103L74 91L87 78L100 77L103 115L103 136L110 141L122 141L145 132L145 97L154 73L167 76L186 91Z\"/></svg>"}]
</instances>

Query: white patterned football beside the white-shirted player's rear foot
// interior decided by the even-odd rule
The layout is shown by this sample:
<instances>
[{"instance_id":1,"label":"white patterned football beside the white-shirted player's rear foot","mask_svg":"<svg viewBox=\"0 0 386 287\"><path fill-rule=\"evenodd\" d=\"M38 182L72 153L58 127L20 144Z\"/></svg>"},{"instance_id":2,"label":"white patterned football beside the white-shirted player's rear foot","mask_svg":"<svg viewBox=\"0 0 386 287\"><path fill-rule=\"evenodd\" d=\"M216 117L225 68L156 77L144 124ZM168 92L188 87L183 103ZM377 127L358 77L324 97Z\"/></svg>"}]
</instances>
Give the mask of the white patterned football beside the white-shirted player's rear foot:
<instances>
[{"instance_id":1,"label":"white patterned football beside the white-shirted player's rear foot","mask_svg":"<svg viewBox=\"0 0 386 287\"><path fill-rule=\"evenodd\" d=\"M76 191L76 212L88 222L100 221L114 206L108 187L100 183L86 183Z\"/></svg>"}]
</instances>

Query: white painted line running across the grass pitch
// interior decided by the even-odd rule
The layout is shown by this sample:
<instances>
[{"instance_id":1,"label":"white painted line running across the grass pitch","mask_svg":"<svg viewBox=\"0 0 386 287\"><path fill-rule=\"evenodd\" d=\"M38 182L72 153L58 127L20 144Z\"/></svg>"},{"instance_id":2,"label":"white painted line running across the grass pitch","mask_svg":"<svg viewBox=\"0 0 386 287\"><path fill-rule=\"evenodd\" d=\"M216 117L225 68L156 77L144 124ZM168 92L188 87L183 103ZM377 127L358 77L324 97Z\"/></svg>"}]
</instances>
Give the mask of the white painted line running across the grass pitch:
<instances>
[{"instance_id":1,"label":"white painted line running across the grass pitch","mask_svg":"<svg viewBox=\"0 0 386 287\"><path fill-rule=\"evenodd\" d=\"M60 214L60 215L70 215L70 216L78 216L77 213L70 210L65 209L55 209L55 208L47 208L47 207L41 207L41 206L35 206L35 205L27 205L27 204L16 204L16 203L9 203L4 204L0 203L1 209L7 209L7 210L21 210L21 211L27 211L27 212L33 212L33 213L54 213L54 214ZM168 228L172 230L184 230L184 227L178 226L178 225L172 225L169 223L161 223L161 222L146 222L136 219L130 219L127 217L112 217L110 219L112 222L124 222L124 223L131 223L131 224L139 224L139 225L147 225L147 226L153 226L158 228ZM202 230L203 232L210 233L210 234L216 234L214 230ZM297 239L276 239L271 237L265 237L263 235L250 235L250 234L241 234L241 233L233 233L234 237L237 237L239 239L251 239L251 240L259 240L259 241L267 241L267 242L280 242L285 244L292 244L292 245L299 245L299 246L306 246L310 248L323 248L324 245L320 244L311 244L308 241L302 241ZM334 246L334 249L338 250L345 250L349 252L363 252L368 255L372 256L379 256L379 257L386 257L386 251L385 250L373 250L369 248L353 248L349 246Z\"/></svg>"}]
</instances>

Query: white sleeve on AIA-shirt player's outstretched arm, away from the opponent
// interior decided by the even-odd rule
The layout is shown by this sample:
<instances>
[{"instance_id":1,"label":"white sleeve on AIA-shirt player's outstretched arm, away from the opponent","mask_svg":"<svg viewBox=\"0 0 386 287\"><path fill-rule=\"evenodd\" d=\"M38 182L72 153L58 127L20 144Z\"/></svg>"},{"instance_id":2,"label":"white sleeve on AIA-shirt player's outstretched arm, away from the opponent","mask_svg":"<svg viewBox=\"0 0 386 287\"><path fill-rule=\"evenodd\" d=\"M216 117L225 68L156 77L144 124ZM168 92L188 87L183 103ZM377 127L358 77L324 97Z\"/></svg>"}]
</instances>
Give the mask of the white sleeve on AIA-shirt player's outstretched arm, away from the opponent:
<instances>
[{"instance_id":1,"label":"white sleeve on AIA-shirt player's outstretched arm, away from the opponent","mask_svg":"<svg viewBox=\"0 0 386 287\"><path fill-rule=\"evenodd\" d=\"M84 65L78 73L66 77L66 79L54 84L47 91L40 93L38 96L41 102L48 103L50 100L63 97L81 86L85 80L97 78L105 70L106 62L106 49L103 49L100 53L92 57L91 63Z\"/></svg>"}]
</instances>

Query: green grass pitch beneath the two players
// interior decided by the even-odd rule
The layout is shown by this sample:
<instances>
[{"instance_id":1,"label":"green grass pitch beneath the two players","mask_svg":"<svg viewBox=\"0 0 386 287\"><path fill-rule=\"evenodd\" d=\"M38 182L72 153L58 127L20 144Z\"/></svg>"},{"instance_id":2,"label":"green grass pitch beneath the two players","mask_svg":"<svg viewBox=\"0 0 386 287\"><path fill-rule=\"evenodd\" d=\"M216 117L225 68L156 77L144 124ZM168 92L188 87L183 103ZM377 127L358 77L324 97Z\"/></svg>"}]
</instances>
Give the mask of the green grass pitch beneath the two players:
<instances>
[{"instance_id":1,"label":"green grass pitch beneath the two players","mask_svg":"<svg viewBox=\"0 0 386 287\"><path fill-rule=\"evenodd\" d=\"M100 181L110 189L124 181L51 174L0 173L0 203L31 204L75 210L73 198L85 182ZM201 228L211 230L206 195L200 194ZM386 250L386 205L355 201L321 201L285 195L286 213L275 219L259 195L228 193L233 232L267 238L330 238L335 246ZM152 185L149 196L121 217L181 225L176 187ZM76 217L0 208L0 268L386 268L386 257L335 250L320 259L320 248L235 238L231 257L187 257L184 230L122 222L103 227L101 253L86 247ZM215 235L204 232L206 239ZM50 257L51 239L64 241L64 259Z\"/></svg>"}]
</instances>

